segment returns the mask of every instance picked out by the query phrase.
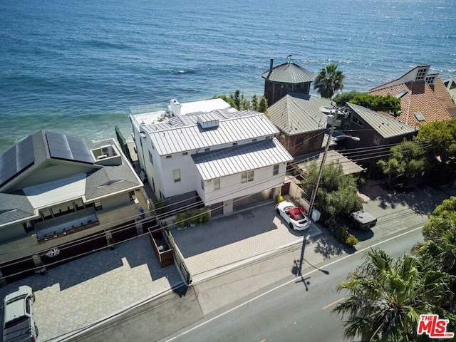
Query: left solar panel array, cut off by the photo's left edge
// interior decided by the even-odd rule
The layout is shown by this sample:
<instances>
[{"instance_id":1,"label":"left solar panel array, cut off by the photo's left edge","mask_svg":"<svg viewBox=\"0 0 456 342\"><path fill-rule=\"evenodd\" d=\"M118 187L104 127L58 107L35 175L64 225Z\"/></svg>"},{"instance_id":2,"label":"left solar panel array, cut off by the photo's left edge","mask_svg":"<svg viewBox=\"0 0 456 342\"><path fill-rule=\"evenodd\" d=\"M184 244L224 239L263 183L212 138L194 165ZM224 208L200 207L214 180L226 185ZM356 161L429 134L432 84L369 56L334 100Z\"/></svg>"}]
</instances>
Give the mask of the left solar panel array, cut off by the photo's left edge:
<instances>
[{"instance_id":1,"label":"left solar panel array, cut off by the photo's left edge","mask_svg":"<svg viewBox=\"0 0 456 342\"><path fill-rule=\"evenodd\" d=\"M24 171L35 161L31 135L0 155L0 186Z\"/></svg>"}]
</instances>

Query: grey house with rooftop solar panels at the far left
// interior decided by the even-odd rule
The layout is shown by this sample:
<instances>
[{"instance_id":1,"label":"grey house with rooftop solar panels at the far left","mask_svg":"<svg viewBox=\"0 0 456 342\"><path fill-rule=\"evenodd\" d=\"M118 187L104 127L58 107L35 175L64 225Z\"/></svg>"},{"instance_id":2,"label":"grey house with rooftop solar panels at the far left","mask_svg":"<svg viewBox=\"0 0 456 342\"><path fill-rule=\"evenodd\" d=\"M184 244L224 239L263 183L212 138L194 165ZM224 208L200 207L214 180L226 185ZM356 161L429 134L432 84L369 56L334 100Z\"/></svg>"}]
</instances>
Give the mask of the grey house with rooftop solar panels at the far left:
<instances>
[{"instance_id":1,"label":"grey house with rooftop solar panels at the far left","mask_svg":"<svg viewBox=\"0 0 456 342\"><path fill-rule=\"evenodd\" d=\"M142 188L112 139L29 135L0 156L0 276L136 235Z\"/></svg>"}]
</instances>

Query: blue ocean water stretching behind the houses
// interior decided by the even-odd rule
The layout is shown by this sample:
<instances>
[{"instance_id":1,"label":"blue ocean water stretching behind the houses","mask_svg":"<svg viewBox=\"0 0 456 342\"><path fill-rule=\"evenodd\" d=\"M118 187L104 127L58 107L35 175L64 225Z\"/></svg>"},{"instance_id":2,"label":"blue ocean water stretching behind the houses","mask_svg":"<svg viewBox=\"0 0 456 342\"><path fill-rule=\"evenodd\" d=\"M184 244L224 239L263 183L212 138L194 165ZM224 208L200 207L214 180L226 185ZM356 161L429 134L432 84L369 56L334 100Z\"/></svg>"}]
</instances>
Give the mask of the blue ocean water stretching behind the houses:
<instances>
[{"instance_id":1,"label":"blue ocean water stretching behind the houses","mask_svg":"<svg viewBox=\"0 0 456 342\"><path fill-rule=\"evenodd\" d=\"M344 90L430 64L456 76L455 0L0 0L0 152L53 130L129 137L128 108L242 90L286 56Z\"/></svg>"}]
</instances>

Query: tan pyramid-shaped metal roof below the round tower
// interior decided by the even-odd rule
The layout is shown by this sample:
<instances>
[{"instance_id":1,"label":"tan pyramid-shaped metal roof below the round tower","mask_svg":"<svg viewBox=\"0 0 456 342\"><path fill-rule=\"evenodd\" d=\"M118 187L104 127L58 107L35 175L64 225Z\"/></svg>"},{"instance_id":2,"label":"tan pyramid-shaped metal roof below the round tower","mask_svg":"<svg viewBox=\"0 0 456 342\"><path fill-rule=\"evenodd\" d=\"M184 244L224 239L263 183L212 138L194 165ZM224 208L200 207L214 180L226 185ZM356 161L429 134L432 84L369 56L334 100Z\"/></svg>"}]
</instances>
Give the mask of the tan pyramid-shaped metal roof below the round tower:
<instances>
[{"instance_id":1,"label":"tan pyramid-shaped metal roof below the round tower","mask_svg":"<svg viewBox=\"0 0 456 342\"><path fill-rule=\"evenodd\" d=\"M289 93L268 109L269 118L288 135L312 132L326 128L331 100L312 95Z\"/></svg>"}]
</instances>

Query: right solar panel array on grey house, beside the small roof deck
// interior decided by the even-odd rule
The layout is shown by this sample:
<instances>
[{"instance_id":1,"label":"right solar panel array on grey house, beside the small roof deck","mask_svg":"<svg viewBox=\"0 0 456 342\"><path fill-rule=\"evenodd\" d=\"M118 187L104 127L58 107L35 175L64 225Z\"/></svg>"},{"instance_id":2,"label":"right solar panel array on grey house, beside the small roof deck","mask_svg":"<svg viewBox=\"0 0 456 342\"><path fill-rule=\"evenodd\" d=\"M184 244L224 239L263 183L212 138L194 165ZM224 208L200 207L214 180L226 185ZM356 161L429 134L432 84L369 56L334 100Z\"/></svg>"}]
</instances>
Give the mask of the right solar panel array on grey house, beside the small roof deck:
<instances>
[{"instance_id":1,"label":"right solar panel array on grey house, beside the small roof deck","mask_svg":"<svg viewBox=\"0 0 456 342\"><path fill-rule=\"evenodd\" d=\"M46 132L46 138L51 157L93 164L93 157L83 139L52 132Z\"/></svg>"}]
</instances>

